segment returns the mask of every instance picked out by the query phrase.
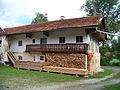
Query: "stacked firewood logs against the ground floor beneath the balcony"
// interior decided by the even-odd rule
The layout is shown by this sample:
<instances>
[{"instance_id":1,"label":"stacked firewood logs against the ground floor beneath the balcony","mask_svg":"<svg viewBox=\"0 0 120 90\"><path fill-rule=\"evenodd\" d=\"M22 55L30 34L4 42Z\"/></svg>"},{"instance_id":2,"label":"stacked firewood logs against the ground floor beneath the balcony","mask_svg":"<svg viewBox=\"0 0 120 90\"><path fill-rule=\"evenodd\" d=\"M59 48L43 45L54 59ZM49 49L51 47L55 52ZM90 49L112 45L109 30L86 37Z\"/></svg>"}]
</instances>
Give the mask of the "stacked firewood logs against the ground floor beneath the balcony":
<instances>
[{"instance_id":1,"label":"stacked firewood logs against the ground floor beneath the balcony","mask_svg":"<svg viewBox=\"0 0 120 90\"><path fill-rule=\"evenodd\" d=\"M46 53L46 65L85 69L85 54Z\"/></svg>"}]
</instances>

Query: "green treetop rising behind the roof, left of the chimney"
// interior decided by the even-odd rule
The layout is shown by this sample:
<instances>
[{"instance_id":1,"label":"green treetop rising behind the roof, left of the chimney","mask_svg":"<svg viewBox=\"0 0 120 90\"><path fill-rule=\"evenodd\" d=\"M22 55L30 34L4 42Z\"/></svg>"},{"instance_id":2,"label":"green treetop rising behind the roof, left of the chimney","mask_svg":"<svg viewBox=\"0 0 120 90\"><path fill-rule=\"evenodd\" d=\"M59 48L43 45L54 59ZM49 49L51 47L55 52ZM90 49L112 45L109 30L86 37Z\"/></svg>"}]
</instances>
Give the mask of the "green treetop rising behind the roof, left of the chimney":
<instances>
[{"instance_id":1,"label":"green treetop rising behind the roof, left of the chimney","mask_svg":"<svg viewBox=\"0 0 120 90\"><path fill-rule=\"evenodd\" d=\"M32 20L31 23L38 23L38 22L46 22L48 21L47 19L47 14L41 14L39 12L37 12L36 17Z\"/></svg>"}]
</instances>

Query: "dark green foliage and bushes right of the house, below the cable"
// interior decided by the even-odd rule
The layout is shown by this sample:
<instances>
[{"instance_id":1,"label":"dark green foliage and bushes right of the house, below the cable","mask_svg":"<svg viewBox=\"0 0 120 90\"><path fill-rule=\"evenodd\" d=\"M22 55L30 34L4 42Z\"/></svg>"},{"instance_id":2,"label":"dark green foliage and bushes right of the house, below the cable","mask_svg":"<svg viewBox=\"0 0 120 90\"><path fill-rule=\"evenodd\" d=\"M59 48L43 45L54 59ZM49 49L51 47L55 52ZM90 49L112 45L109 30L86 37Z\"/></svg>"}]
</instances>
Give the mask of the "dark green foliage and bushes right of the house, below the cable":
<instances>
[{"instance_id":1,"label":"dark green foliage and bushes right of the house, below the cable","mask_svg":"<svg viewBox=\"0 0 120 90\"><path fill-rule=\"evenodd\" d=\"M100 47L101 65L119 65L120 66L120 37L112 39L111 45L106 43Z\"/></svg>"}]
</instances>

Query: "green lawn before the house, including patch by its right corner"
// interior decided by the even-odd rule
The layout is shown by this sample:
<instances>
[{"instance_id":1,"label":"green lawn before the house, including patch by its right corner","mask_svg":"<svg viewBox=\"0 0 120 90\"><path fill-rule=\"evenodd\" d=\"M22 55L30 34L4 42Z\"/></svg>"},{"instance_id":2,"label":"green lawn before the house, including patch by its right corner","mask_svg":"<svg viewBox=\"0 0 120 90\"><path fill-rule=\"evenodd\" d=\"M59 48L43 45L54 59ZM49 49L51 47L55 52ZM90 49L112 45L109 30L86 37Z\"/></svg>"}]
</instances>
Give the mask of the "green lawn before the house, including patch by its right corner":
<instances>
[{"instance_id":1,"label":"green lawn before the house, including patch by its right corner","mask_svg":"<svg viewBox=\"0 0 120 90\"><path fill-rule=\"evenodd\" d=\"M105 70L103 73L95 74L92 78L101 78L112 73L111 70ZM90 77L90 78L91 78ZM48 73L30 70L18 70L10 66L0 67L0 88L1 87L26 87L26 86L43 86L61 82L71 82L84 79L75 75ZM89 79L89 78L88 78ZM0 89L1 90L1 89ZM2 89L4 90L4 89Z\"/></svg>"}]
</instances>

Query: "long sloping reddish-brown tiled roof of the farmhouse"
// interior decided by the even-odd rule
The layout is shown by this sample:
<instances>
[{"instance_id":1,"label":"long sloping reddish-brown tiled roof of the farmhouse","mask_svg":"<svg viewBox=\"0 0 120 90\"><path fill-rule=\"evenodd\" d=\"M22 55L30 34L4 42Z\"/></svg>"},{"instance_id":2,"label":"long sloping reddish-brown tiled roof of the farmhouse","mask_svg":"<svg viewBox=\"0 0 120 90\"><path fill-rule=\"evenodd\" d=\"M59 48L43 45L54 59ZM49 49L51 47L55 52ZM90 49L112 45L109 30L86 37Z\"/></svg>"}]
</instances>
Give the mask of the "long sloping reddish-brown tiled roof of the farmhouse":
<instances>
[{"instance_id":1,"label":"long sloping reddish-brown tiled roof of the farmhouse","mask_svg":"<svg viewBox=\"0 0 120 90\"><path fill-rule=\"evenodd\" d=\"M64 19L36 24L24 25L19 27L5 28L6 34L27 33L37 31L48 31L63 28L80 28L86 26L98 26L103 19L102 16L89 16L82 18Z\"/></svg>"}]
</instances>

